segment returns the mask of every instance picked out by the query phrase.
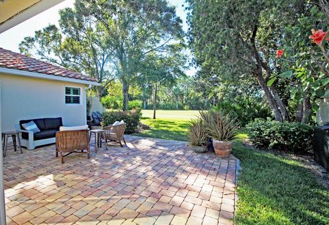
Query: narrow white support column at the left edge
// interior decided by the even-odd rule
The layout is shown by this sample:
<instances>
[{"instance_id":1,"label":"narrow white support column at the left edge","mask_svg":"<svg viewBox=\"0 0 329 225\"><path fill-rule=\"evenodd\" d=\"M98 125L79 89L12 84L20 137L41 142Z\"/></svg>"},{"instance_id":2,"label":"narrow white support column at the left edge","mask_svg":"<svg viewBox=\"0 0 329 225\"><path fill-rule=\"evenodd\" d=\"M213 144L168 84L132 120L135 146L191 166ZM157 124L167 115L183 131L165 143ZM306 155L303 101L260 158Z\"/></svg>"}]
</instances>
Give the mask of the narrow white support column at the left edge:
<instances>
[{"instance_id":1,"label":"narrow white support column at the left edge","mask_svg":"<svg viewBox=\"0 0 329 225\"><path fill-rule=\"evenodd\" d=\"M1 125L1 79L0 79L0 133L2 132ZM2 138L0 139L0 224L5 223L5 190L3 188L3 153L2 153Z\"/></svg>"}]
</instances>

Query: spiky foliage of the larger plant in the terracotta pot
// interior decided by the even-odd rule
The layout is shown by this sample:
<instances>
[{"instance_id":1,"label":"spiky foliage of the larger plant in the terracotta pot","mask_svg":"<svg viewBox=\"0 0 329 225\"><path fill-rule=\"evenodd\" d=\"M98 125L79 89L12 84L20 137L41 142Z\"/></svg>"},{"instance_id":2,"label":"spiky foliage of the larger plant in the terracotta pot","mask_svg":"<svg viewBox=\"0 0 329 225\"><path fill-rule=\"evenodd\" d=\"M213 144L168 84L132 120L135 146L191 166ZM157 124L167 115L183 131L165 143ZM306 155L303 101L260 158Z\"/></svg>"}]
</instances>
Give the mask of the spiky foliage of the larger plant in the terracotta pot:
<instances>
[{"instance_id":1,"label":"spiky foliage of the larger plant in the terracotta pot","mask_svg":"<svg viewBox=\"0 0 329 225\"><path fill-rule=\"evenodd\" d=\"M230 142L236 139L238 123L231 113L223 111L200 111L206 131L214 140Z\"/></svg>"}]
</instances>

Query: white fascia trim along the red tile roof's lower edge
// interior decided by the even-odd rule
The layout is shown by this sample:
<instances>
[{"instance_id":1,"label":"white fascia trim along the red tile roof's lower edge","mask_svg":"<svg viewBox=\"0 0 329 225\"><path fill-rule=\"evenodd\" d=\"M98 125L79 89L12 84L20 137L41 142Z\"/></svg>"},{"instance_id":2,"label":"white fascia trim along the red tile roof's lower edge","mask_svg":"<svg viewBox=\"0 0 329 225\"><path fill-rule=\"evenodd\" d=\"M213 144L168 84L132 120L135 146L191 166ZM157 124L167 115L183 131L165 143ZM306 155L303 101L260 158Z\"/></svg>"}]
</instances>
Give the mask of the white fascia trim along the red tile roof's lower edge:
<instances>
[{"instance_id":1,"label":"white fascia trim along the red tile roof's lower edge","mask_svg":"<svg viewBox=\"0 0 329 225\"><path fill-rule=\"evenodd\" d=\"M66 81L71 83L83 83L86 85L95 85L100 86L100 83L97 83L95 81L84 81L80 79L72 79L67 77L59 77L55 75L45 75L38 72L29 72L25 70L16 70L16 69L10 69L10 68L0 68L0 72L3 72L8 75L19 75L19 76L25 76L25 77L36 77L40 79L48 79L48 80L55 80L55 81Z\"/></svg>"}]
</instances>

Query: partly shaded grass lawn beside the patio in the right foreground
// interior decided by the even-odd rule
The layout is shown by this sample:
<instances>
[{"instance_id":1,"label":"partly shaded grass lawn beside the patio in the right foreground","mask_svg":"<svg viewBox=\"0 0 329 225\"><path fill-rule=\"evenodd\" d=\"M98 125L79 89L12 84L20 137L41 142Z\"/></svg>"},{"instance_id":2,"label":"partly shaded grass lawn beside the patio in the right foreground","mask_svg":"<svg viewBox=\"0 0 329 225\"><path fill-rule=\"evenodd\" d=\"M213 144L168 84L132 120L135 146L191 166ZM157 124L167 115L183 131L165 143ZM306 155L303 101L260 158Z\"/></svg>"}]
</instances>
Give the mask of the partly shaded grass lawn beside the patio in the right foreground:
<instances>
[{"instance_id":1,"label":"partly shaded grass lawn beside the patio in the right foreground","mask_svg":"<svg viewBox=\"0 0 329 225\"><path fill-rule=\"evenodd\" d=\"M297 161L234 144L238 224L329 224L329 190Z\"/></svg>"}]
</instances>

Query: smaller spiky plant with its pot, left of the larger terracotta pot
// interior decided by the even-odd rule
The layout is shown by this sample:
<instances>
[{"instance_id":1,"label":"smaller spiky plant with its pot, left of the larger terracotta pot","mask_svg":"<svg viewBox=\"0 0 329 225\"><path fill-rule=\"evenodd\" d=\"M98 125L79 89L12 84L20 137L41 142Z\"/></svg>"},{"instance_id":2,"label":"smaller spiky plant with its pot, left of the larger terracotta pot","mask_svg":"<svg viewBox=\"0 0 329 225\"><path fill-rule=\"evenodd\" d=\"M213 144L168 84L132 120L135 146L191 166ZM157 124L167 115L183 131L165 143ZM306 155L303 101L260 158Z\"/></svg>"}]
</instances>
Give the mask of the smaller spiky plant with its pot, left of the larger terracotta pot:
<instances>
[{"instance_id":1,"label":"smaller spiky plant with its pot, left of the larger terracotta pot","mask_svg":"<svg viewBox=\"0 0 329 225\"><path fill-rule=\"evenodd\" d=\"M208 134L203 120L193 119L190 124L190 148L197 153L205 153L208 144Z\"/></svg>"}]
</instances>

